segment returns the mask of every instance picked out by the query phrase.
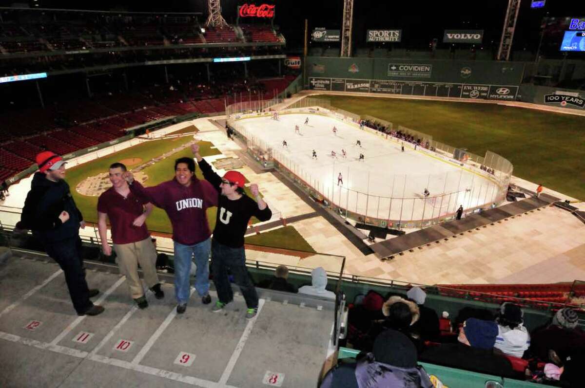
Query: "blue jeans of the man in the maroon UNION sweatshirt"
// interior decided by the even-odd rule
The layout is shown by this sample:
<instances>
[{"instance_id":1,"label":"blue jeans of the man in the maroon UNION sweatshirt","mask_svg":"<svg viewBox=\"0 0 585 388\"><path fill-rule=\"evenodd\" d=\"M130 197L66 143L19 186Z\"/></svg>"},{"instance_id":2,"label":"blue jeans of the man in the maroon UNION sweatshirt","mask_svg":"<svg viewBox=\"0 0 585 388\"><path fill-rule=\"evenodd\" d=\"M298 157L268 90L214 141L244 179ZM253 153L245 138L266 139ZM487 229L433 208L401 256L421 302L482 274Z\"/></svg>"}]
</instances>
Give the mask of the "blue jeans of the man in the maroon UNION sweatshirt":
<instances>
[{"instance_id":1,"label":"blue jeans of the man in the maroon UNION sweatshirt","mask_svg":"<svg viewBox=\"0 0 585 388\"><path fill-rule=\"evenodd\" d=\"M209 292L209 251L211 251L211 238L198 242L195 245L183 245L173 241L175 250L175 295L178 304L187 303L189 300L189 278L191 276L191 258L195 257L195 289L199 296L205 296Z\"/></svg>"}]
</instances>

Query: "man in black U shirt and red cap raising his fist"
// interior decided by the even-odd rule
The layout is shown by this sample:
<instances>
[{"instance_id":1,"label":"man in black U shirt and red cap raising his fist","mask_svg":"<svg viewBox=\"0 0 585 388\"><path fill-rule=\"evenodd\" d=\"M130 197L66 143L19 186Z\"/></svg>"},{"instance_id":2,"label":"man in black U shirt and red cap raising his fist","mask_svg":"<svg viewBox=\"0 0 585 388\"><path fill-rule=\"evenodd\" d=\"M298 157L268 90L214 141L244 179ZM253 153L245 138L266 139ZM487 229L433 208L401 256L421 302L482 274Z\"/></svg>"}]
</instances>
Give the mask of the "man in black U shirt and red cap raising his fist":
<instances>
[{"instance_id":1,"label":"man in black U shirt and red cap raising his fist","mask_svg":"<svg viewBox=\"0 0 585 388\"><path fill-rule=\"evenodd\" d=\"M192 144L191 151L204 178L219 193L217 220L211 240L211 273L218 301L212 311L222 311L233 300L229 269L246 300L246 318L253 318L258 311L258 294L246 268L244 234L250 218L254 216L260 221L267 221L272 217L272 212L260 196L256 183L250 185L250 192L256 198L254 201L244 192L246 178L241 172L228 171L222 178L201 157L198 144Z\"/></svg>"}]
</instances>

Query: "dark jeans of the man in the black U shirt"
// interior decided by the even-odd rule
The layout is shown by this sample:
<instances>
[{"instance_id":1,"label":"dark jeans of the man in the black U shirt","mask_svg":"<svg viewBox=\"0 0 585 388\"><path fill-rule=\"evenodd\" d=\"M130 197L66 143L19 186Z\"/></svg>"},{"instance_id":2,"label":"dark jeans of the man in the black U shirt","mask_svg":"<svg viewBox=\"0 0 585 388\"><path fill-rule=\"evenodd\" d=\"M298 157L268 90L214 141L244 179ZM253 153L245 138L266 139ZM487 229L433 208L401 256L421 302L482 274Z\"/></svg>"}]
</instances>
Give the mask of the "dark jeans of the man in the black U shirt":
<instances>
[{"instance_id":1,"label":"dark jeans of the man in the black U shirt","mask_svg":"<svg viewBox=\"0 0 585 388\"><path fill-rule=\"evenodd\" d=\"M218 292L219 302L222 303L229 303L233 300L233 290L228 279L228 268L233 275L234 282L240 287L248 309L258 307L258 294L246 268L244 247L230 248L212 240L211 273L214 276L214 285Z\"/></svg>"}]
</instances>

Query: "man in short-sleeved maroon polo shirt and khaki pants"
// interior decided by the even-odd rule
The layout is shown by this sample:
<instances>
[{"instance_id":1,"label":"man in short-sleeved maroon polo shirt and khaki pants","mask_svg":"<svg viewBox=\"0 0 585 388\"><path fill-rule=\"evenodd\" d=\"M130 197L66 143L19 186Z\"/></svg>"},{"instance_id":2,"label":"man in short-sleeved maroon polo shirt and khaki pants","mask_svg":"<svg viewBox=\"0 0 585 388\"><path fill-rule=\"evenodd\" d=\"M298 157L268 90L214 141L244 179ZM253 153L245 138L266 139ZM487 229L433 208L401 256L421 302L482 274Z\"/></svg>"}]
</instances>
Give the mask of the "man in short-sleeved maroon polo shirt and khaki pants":
<instances>
[{"instance_id":1,"label":"man in short-sleeved maroon polo shirt and khaki pants","mask_svg":"<svg viewBox=\"0 0 585 388\"><path fill-rule=\"evenodd\" d=\"M116 261L123 275L132 299L140 309L148 307L142 282L138 276L138 264L144 274L144 282L156 299L163 299L159 277L156 273L156 250L144 221L152 212L153 205L130 192L128 182L122 177L126 166L114 163L109 167L112 187L103 192L98 199L98 230L104 254L112 254L107 240L106 218L112 227L113 249Z\"/></svg>"}]
</instances>

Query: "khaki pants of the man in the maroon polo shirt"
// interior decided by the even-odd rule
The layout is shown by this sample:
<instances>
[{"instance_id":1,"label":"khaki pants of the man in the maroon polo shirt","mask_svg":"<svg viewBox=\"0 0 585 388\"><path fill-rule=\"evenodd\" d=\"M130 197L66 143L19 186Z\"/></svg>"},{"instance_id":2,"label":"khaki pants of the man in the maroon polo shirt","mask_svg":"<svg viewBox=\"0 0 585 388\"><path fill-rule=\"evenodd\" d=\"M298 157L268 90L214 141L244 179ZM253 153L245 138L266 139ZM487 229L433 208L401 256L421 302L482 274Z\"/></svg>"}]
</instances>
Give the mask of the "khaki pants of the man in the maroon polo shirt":
<instances>
[{"instance_id":1,"label":"khaki pants of the man in the maroon polo shirt","mask_svg":"<svg viewBox=\"0 0 585 388\"><path fill-rule=\"evenodd\" d=\"M132 299L144 296L142 283L138 276L138 264L144 274L144 282L150 288L159 283L156 273L156 250L150 237L130 244L113 244L116 252L116 262L122 275L126 276L126 284Z\"/></svg>"}]
</instances>

